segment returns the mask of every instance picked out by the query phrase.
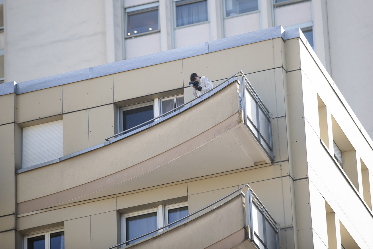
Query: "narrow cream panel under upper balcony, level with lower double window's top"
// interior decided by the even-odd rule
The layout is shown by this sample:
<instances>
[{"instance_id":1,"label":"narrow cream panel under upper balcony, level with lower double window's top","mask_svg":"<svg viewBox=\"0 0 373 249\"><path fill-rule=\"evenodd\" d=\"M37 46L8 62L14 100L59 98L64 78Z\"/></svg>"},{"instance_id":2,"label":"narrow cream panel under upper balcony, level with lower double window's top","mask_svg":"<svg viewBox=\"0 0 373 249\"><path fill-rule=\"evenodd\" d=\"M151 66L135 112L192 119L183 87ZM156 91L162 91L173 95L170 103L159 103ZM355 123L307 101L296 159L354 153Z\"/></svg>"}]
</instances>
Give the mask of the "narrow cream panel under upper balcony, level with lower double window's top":
<instances>
[{"instance_id":1,"label":"narrow cream panel under upper balcony, level with lower double window's top","mask_svg":"<svg viewBox=\"0 0 373 249\"><path fill-rule=\"evenodd\" d=\"M65 221L116 210L115 198L83 203L65 208Z\"/></svg>"}]
</instances>

